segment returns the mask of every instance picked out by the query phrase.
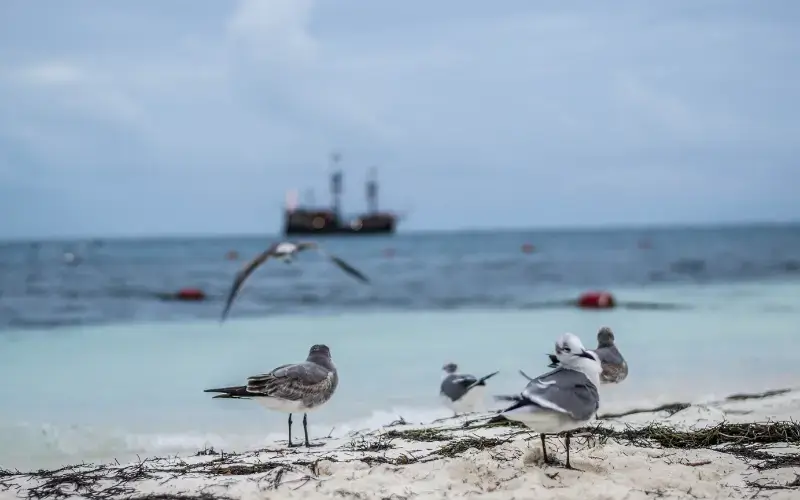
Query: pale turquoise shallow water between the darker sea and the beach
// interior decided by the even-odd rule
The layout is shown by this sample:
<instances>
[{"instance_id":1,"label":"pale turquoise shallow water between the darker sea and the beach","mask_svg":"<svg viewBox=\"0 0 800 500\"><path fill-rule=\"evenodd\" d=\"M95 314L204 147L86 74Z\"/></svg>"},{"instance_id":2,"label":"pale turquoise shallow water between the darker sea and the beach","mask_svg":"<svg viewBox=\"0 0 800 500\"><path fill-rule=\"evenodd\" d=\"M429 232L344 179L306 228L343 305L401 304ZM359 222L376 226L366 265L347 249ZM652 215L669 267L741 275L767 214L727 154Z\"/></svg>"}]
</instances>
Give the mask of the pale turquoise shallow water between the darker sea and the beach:
<instances>
[{"instance_id":1,"label":"pale turquoise shallow water between the darker sea and the beach","mask_svg":"<svg viewBox=\"0 0 800 500\"><path fill-rule=\"evenodd\" d=\"M524 385L518 369L546 369L544 353L556 336L572 331L592 346L603 325L615 330L631 370L624 384L604 392L606 410L800 385L798 283L630 287L617 295L693 307L341 312L9 329L0 335L0 466L126 460L204 446L235 450L285 439L285 415L249 401L212 400L202 390L300 361L314 343L330 346L341 375L331 403L309 415L315 436L398 415L446 416L437 399L445 361L476 375L499 369L490 393L515 392Z\"/></svg>"}]
</instances>

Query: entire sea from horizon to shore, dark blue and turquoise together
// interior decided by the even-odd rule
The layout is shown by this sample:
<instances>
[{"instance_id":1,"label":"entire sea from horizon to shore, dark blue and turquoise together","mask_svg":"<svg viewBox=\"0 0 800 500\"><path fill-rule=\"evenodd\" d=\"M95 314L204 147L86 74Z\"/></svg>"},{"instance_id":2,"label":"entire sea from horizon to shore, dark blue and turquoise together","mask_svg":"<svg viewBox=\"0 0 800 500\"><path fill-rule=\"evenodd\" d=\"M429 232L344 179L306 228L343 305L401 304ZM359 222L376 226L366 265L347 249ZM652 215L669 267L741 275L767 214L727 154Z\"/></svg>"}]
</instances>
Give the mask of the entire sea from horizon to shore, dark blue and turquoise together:
<instances>
[{"instance_id":1,"label":"entire sea from horizon to shore, dark blue and turquoise together","mask_svg":"<svg viewBox=\"0 0 800 500\"><path fill-rule=\"evenodd\" d=\"M517 392L517 370L544 371L560 333L591 347L604 325L631 373L604 387L604 411L800 382L797 225L324 238L372 284L313 253L268 262L220 323L233 275L275 240L0 243L0 468L286 439L285 415L202 390L301 361L315 343L341 382L309 414L312 439L447 416L447 361L500 370L489 392ZM166 300L181 287L208 299ZM598 289L619 307L571 303Z\"/></svg>"}]
</instances>

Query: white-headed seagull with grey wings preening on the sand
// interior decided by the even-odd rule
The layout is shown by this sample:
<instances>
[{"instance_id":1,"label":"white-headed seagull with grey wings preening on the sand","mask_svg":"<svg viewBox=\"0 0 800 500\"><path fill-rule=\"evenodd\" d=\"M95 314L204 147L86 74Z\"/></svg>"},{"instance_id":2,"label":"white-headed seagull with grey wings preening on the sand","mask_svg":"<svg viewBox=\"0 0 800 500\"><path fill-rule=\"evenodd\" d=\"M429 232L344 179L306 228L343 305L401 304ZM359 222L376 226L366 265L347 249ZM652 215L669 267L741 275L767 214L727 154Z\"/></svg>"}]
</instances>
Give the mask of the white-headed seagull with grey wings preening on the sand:
<instances>
[{"instance_id":1,"label":"white-headed seagull with grey wings preening on the sand","mask_svg":"<svg viewBox=\"0 0 800 500\"><path fill-rule=\"evenodd\" d=\"M509 420L522 422L539 432L542 454L547 463L545 434L566 431L566 467L569 462L570 431L583 427L597 414L600 407L600 359L587 351L580 339L565 333L556 343L559 366L536 378L520 374L528 379L528 385L516 396L496 396L498 400L513 401L514 404L500 414Z\"/></svg>"}]
</instances>

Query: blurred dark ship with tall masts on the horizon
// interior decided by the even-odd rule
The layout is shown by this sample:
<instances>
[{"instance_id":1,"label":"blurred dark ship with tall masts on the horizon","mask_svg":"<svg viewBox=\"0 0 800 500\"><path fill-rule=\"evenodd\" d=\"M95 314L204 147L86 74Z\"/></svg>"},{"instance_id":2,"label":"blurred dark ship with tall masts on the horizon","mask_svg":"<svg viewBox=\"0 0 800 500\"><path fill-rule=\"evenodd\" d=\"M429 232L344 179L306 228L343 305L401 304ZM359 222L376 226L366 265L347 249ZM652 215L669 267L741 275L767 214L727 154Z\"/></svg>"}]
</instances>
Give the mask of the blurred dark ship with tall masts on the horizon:
<instances>
[{"instance_id":1,"label":"blurred dark ship with tall masts on the horizon","mask_svg":"<svg viewBox=\"0 0 800 500\"><path fill-rule=\"evenodd\" d=\"M298 206L297 191L286 194L286 207L283 218L283 233L293 234L393 234L398 217L391 212L378 210L378 181L375 167L370 168L366 183L367 211L352 219L341 215L342 170L339 168L341 155L331 155L331 207L314 208Z\"/></svg>"}]
</instances>

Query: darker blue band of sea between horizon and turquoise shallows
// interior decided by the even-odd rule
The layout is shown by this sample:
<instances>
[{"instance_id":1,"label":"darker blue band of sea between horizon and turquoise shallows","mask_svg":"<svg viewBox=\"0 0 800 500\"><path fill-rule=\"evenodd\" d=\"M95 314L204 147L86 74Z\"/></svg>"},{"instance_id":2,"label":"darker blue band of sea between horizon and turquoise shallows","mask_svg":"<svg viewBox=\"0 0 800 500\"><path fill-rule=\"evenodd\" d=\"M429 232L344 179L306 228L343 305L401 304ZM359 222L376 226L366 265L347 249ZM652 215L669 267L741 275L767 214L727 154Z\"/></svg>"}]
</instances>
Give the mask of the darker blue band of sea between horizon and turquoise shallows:
<instances>
[{"instance_id":1,"label":"darker blue band of sea between horizon and turquoise shallows","mask_svg":"<svg viewBox=\"0 0 800 500\"><path fill-rule=\"evenodd\" d=\"M0 242L0 334L218 319L233 276L278 238ZM231 317L543 308L590 288L660 294L665 285L800 279L800 225L418 233L320 243L372 284L303 253L292 265L267 262L253 273ZM238 255L226 258L231 251ZM66 261L65 252L75 259ZM184 287L202 289L206 300L166 300ZM692 305L682 296L669 300Z\"/></svg>"}]
</instances>

